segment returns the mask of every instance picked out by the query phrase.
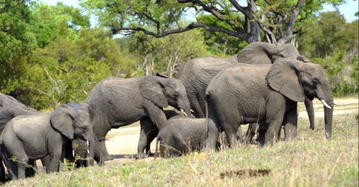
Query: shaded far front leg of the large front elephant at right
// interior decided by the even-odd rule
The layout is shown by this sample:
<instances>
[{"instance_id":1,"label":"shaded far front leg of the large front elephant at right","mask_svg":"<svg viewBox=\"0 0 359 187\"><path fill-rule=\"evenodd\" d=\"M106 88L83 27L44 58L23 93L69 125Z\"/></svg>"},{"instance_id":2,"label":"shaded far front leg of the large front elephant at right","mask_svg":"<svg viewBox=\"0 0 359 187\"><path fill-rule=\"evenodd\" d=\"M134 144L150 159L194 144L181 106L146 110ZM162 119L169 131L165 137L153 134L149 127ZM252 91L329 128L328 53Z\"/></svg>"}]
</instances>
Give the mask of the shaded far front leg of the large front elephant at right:
<instances>
[{"instance_id":1,"label":"shaded far front leg of the large front elephant at right","mask_svg":"<svg viewBox=\"0 0 359 187\"><path fill-rule=\"evenodd\" d=\"M297 135L298 118L296 115L296 106L287 111L283 120L285 141L291 141Z\"/></svg>"}]
</instances>

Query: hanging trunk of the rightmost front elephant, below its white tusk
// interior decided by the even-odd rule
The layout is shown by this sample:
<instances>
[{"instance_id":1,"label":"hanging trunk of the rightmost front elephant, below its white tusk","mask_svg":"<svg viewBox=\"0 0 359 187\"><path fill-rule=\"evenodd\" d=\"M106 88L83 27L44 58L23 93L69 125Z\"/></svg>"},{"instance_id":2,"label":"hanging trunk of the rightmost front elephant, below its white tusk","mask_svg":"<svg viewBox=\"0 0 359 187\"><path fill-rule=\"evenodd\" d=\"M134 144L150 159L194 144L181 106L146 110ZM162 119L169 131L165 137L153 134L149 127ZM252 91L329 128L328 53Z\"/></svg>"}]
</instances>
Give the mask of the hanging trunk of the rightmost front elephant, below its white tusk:
<instances>
[{"instance_id":1,"label":"hanging trunk of the rightmost front elephant, below its white tusk","mask_svg":"<svg viewBox=\"0 0 359 187\"><path fill-rule=\"evenodd\" d=\"M333 107L334 107L333 95L329 83L325 90L325 96L326 96L325 103L327 103L327 105L330 107L328 108L327 106L324 106L325 134L329 141L332 136L332 123L333 123L332 120L333 120Z\"/></svg>"}]
</instances>

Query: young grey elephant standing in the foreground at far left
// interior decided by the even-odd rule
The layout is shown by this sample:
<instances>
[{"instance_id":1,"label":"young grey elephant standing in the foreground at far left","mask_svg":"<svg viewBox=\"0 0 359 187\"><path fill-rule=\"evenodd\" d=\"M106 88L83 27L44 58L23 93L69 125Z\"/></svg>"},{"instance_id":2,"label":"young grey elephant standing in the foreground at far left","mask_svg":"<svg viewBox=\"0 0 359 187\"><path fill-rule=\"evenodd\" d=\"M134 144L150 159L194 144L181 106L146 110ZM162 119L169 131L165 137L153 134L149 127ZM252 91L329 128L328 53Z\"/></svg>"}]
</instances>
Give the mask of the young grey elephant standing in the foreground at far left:
<instances>
[{"instance_id":1,"label":"young grey elephant standing in the foreground at far left","mask_svg":"<svg viewBox=\"0 0 359 187\"><path fill-rule=\"evenodd\" d=\"M25 166L47 155L50 157L47 171L61 171L66 143L74 137L89 141L90 165L93 165L95 141L89 109L87 104L77 111L61 105L52 113L19 115L12 119L0 135L1 157L10 180L25 179Z\"/></svg>"}]
</instances>

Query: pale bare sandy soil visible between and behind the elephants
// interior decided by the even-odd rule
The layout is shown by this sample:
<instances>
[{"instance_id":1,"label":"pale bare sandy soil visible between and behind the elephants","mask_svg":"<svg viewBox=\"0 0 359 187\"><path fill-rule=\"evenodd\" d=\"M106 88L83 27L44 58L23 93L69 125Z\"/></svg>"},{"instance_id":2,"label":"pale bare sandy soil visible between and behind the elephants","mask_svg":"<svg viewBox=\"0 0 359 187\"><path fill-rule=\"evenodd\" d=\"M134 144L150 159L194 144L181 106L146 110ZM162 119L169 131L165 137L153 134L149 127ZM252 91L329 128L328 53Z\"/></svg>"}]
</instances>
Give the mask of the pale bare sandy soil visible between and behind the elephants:
<instances>
[{"instance_id":1,"label":"pale bare sandy soil visible between and behind the elephants","mask_svg":"<svg viewBox=\"0 0 359 187\"><path fill-rule=\"evenodd\" d=\"M324 117L324 107L318 99L313 100L315 118ZM337 98L334 99L334 112L333 115L340 115L345 113L358 113L359 101L357 98ZM308 118L307 111L304 103L298 103L300 111L298 118ZM135 160L134 156L137 153L137 143L139 139L140 127L122 127L118 129L111 129L106 136L106 147L108 152L114 156L114 160L105 161L106 165L113 162L122 162L125 159L132 161L150 161L153 157ZM156 139L151 143L151 152L155 152ZM43 170L41 161L37 160L37 168L41 172Z\"/></svg>"}]
</instances>

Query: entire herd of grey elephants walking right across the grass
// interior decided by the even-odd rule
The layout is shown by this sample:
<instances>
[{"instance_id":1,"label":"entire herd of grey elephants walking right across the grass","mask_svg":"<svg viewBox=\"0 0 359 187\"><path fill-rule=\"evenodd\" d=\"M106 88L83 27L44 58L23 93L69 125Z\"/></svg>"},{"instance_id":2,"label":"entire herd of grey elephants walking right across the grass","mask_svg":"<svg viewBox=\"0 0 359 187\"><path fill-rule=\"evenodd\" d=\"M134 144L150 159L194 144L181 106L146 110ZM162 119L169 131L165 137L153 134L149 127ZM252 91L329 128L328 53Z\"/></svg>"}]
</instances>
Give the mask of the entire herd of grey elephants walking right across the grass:
<instances>
[{"instance_id":1,"label":"entire herd of grey elephants walking right across the grass","mask_svg":"<svg viewBox=\"0 0 359 187\"><path fill-rule=\"evenodd\" d=\"M85 102L42 113L0 93L0 153L9 179L33 176L35 160L46 172L62 171L64 158L77 167L112 160L105 137L112 128L139 121L137 159L248 144L257 133L261 146L297 135L297 102L304 102L314 129L312 100L324 105L325 132L331 137L333 97L321 65L292 44L254 42L229 58L207 56L186 62L177 78L161 74L98 82ZM173 110L164 110L168 106ZM249 124L242 139L241 125ZM225 141L221 141L225 140ZM222 143L222 144L221 144ZM74 154L73 154L74 151ZM75 159L80 156L86 159ZM5 181L5 168L0 180Z\"/></svg>"}]
</instances>

